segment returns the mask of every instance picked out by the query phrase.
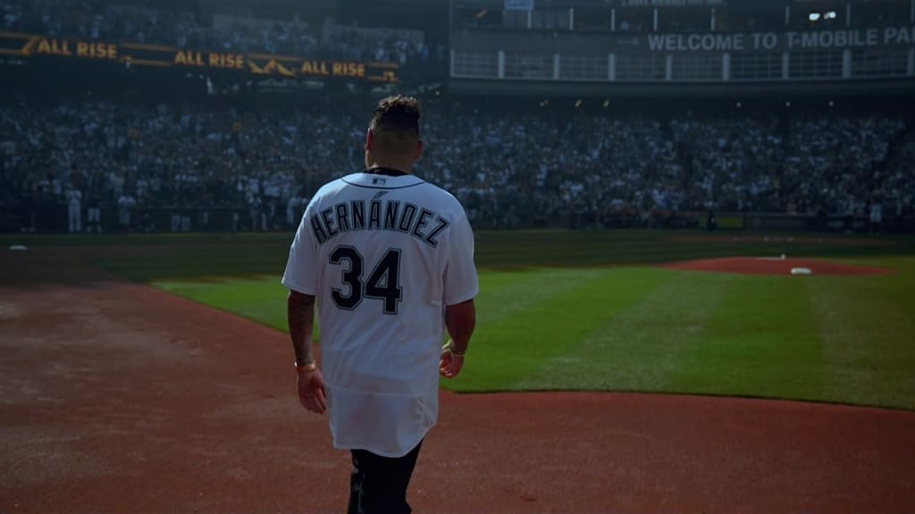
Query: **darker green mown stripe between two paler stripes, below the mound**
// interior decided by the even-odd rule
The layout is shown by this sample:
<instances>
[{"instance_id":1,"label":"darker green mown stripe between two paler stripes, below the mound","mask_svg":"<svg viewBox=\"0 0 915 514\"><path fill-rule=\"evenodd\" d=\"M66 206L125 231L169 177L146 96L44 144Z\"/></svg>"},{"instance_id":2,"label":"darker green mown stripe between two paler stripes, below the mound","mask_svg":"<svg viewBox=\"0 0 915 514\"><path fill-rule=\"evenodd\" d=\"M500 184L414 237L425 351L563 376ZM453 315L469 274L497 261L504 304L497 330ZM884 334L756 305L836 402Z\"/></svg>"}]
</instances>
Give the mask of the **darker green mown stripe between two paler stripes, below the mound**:
<instances>
[{"instance_id":1,"label":"darker green mown stripe between two paler stripes, below the mound","mask_svg":"<svg viewBox=\"0 0 915 514\"><path fill-rule=\"evenodd\" d=\"M823 400L823 351L805 278L731 276L701 344L667 389Z\"/></svg>"}]
</instances>

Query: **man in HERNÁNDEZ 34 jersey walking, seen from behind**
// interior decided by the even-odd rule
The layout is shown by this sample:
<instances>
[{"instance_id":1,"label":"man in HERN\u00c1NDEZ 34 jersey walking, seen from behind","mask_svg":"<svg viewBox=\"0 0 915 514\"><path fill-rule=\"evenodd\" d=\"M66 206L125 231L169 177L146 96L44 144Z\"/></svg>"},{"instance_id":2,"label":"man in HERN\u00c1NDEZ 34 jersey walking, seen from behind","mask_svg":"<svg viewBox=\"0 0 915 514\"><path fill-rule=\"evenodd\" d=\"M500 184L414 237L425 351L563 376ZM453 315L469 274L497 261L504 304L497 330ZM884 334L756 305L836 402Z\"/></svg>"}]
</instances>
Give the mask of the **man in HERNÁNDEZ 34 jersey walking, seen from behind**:
<instances>
[{"instance_id":1,"label":"man in HERN\u00c1NDEZ 34 jersey walking, seen from behind","mask_svg":"<svg viewBox=\"0 0 915 514\"><path fill-rule=\"evenodd\" d=\"M379 103L365 171L318 190L283 276L299 400L329 413L334 447L352 454L350 514L411 511L406 490L436 424L438 376L458 376L476 321L467 215L411 175L423 151L421 113L413 98ZM311 349L316 304L320 368Z\"/></svg>"}]
</instances>

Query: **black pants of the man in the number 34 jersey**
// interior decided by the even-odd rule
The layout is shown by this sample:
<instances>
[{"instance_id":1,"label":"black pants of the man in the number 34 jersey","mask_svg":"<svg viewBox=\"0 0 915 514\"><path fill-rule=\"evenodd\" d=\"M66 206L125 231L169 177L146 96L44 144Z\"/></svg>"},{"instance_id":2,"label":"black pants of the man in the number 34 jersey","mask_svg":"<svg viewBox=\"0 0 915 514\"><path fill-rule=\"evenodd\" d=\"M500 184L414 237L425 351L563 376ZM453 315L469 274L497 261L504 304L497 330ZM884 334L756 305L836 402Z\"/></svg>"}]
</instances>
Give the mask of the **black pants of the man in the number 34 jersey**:
<instances>
[{"instance_id":1,"label":"black pants of the man in the number 34 jersey","mask_svg":"<svg viewBox=\"0 0 915 514\"><path fill-rule=\"evenodd\" d=\"M416 466L420 441L409 454L391 458L351 450L350 508L347 514L410 514L406 488Z\"/></svg>"}]
</instances>

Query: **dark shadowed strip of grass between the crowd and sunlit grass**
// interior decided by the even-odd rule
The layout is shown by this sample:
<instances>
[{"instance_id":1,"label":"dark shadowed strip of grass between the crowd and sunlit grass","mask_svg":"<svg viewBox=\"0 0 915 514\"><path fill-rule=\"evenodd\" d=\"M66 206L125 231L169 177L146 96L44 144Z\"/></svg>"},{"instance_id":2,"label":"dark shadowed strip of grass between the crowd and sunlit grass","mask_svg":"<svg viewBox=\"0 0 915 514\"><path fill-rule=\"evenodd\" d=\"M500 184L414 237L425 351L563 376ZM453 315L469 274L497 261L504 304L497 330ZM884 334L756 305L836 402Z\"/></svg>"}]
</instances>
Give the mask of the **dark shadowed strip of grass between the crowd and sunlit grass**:
<instances>
[{"instance_id":1,"label":"dark shadowed strip of grass between the crowd and sunlit grass","mask_svg":"<svg viewBox=\"0 0 915 514\"><path fill-rule=\"evenodd\" d=\"M771 234L759 241L752 232L723 232L718 242L682 242L674 238L707 236L704 232L661 230L512 230L480 231L477 263L485 270L530 267L594 267L648 264L729 255L829 256L869 258L915 255L915 238L888 236L803 235L810 241L787 241L791 234ZM756 241L748 241L755 238ZM775 241L775 238L779 238ZM738 241L732 241L737 239ZM884 245L861 246L856 240ZM155 234L155 235L0 235L0 245L88 246L97 249L106 270L138 282L172 278L279 276L285 268L292 233ZM105 256L106 251L110 256Z\"/></svg>"}]
</instances>

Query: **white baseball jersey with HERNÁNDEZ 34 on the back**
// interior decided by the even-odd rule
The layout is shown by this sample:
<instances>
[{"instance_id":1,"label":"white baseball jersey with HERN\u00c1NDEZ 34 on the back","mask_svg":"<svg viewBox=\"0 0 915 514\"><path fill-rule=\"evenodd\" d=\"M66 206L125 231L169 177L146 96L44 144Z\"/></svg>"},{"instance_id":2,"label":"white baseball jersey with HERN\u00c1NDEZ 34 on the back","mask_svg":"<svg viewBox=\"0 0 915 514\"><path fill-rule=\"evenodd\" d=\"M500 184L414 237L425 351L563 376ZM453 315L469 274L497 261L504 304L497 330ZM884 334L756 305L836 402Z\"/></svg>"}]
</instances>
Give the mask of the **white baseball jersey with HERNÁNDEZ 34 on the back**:
<instances>
[{"instance_id":1,"label":"white baseball jersey with HERN\u00c1NDEZ 34 on the back","mask_svg":"<svg viewBox=\"0 0 915 514\"><path fill-rule=\"evenodd\" d=\"M457 198L413 175L318 190L283 284L316 296L334 447L407 454L436 424L445 307L479 292Z\"/></svg>"}]
</instances>

